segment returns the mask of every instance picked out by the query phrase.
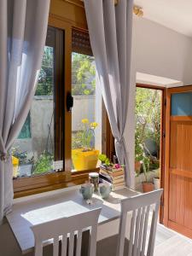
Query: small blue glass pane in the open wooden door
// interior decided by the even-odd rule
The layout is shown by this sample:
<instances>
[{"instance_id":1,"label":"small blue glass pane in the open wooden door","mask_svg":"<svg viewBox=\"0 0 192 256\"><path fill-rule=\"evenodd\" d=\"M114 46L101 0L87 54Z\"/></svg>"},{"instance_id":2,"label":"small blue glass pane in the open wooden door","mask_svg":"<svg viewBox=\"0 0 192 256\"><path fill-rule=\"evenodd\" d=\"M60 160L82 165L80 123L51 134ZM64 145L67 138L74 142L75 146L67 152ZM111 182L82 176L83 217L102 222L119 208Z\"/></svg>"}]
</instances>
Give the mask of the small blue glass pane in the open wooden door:
<instances>
[{"instance_id":1,"label":"small blue glass pane in the open wooden door","mask_svg":"<svg viewBox=\"0 0 192 256\"><path fill-rule=\"evenodd\" d=\"M172 115L192 115L192 92L172 94Z\"/></svg>"}]
</instances>

